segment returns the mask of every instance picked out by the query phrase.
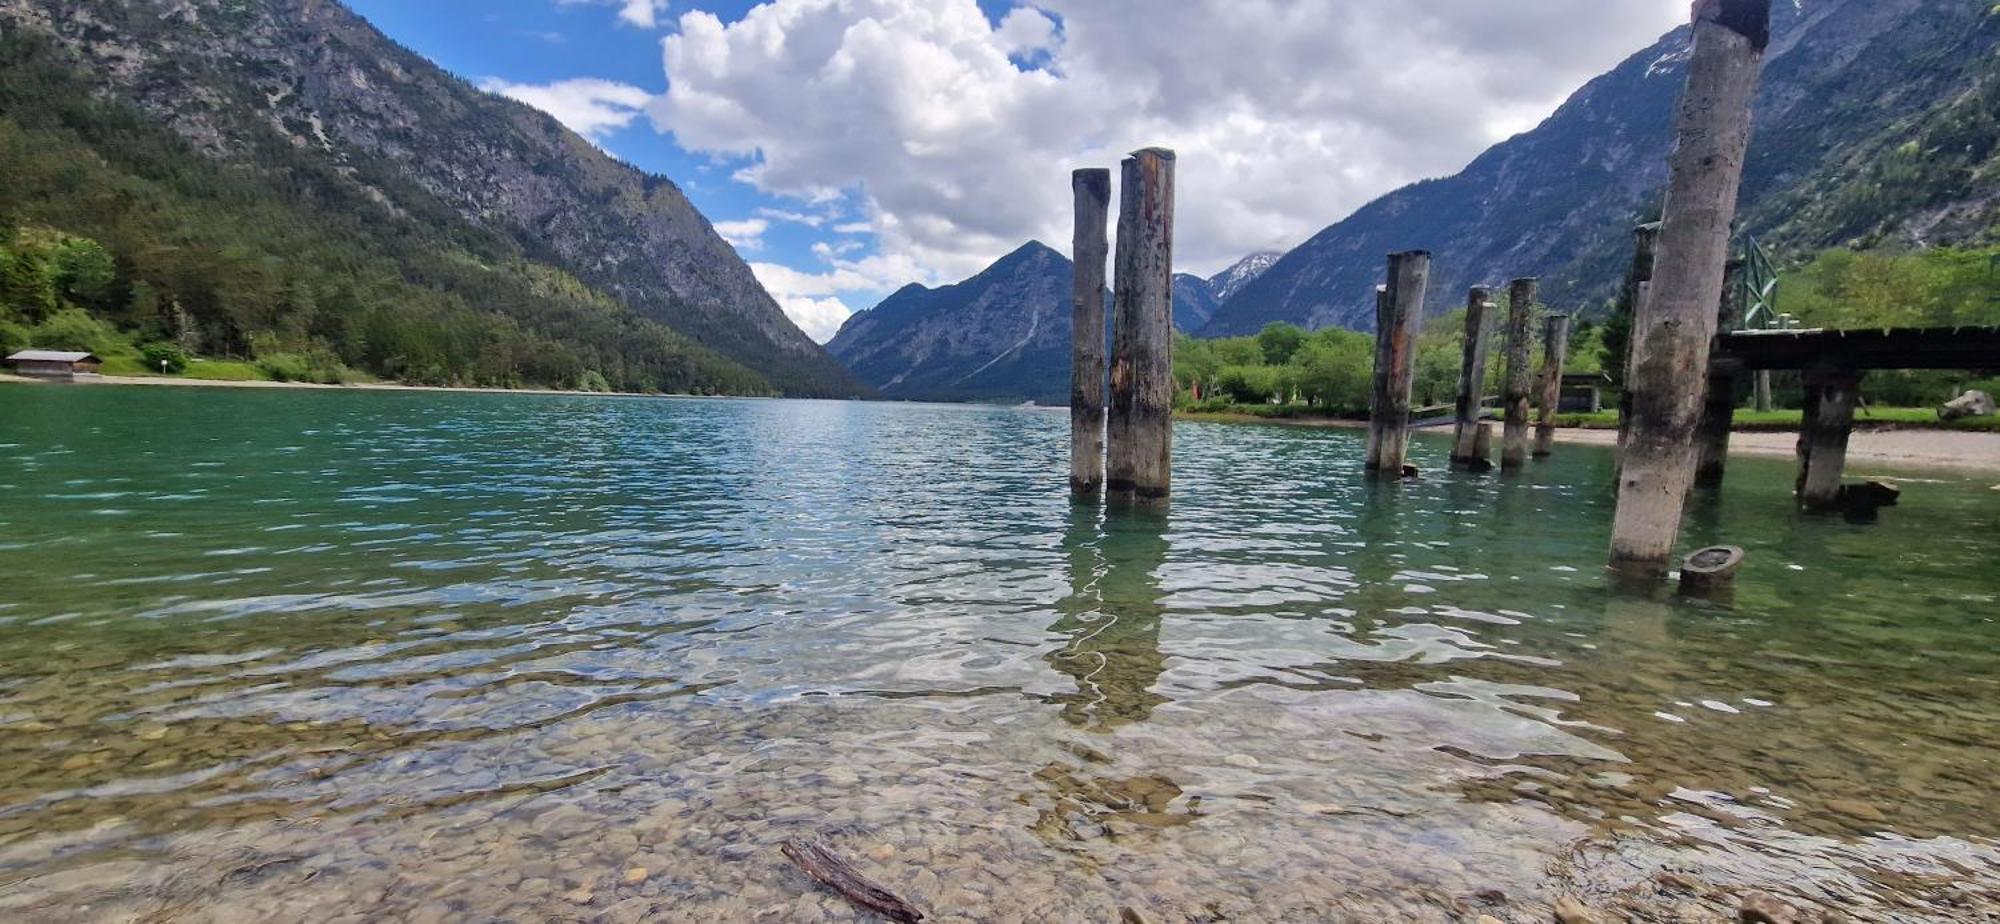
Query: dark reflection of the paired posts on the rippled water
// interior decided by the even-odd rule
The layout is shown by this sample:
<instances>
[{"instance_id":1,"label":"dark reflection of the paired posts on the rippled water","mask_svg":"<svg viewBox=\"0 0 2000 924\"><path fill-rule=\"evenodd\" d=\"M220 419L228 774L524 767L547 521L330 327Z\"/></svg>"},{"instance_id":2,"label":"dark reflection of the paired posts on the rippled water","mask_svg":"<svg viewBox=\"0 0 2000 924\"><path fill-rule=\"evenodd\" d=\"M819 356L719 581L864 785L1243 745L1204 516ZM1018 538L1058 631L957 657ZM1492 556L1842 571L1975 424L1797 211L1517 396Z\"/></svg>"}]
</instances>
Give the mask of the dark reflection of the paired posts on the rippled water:
<instances>
[{"instance_id":1,"label":"dark reflection of the paired posts on the rippled water","mask_svg":"<svg viewBox=\"0 0 2000 924\"><path fill-rule=\"evenodd\" d=\"M1072 512L1064 534L1070 596L1048 630L1068 642L1048 666L1076 680L1076 692L1056 696L1062 718L1106 732L1144 722L1166 698L1152 692L1166 670L1160 654L1164 612L1156 572L1166 562L1166 522L1146 512L1114 512L1102 524L1096 510Z\"/></svg>"}]
</instances>

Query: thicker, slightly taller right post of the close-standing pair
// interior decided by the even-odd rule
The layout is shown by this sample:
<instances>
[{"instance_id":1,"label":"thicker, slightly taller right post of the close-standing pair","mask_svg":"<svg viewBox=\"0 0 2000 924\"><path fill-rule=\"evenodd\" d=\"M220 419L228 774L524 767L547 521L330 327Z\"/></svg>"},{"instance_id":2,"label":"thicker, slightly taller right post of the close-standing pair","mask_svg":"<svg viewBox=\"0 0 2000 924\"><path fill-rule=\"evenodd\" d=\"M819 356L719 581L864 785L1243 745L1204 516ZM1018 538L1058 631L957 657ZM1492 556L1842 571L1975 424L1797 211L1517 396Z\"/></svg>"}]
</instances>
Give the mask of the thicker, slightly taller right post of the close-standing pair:
<instances>
[{"instance_id":1,"label":"thicker, slightly taller right post of the close-standing pair","mask_svg":"<svg viewBox=\"0 0 2000 924\"><path fill-rule=\"evenodd\" d=\"M1164 504L1174 486L1174 152L1124 158L1112 294L1114 500Z\"/></svg>"}]
</instances>

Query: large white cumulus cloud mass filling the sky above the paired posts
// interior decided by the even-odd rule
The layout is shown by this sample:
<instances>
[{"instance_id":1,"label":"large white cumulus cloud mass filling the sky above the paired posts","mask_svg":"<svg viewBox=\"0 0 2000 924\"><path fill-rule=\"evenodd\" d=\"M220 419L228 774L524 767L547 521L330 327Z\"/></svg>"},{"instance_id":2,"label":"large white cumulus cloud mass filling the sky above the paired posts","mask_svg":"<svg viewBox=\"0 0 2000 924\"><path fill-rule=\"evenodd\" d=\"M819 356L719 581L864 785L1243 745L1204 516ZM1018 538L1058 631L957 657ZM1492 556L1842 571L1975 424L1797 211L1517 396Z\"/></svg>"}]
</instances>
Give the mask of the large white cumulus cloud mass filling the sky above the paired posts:
<instances>
[{"instance_id":1,"label":"large white cumulus cloud mass filling the sky above the paired posts","mask_svg":"<svg viewBox=\"0 0 2000 924\"><path fill-rule=\"evenodd\" d=\"M854 196L878 268L962 278L1068 244L1070 170L1176 148L1176 258L1282 250L1462 168L1688 14L1686 0L768 0L690 10L652 120L738 180ZM852 282L830 262L822 292ZM760 278L764 274L760 272ZM794 280L796 282L796 280ZM766 280L770 286L770 280ZM832 286L832 288L830 288ZM776 294L776 290L774 290ZM780 296L782 298L782 296Z\"/></svg>"}]
</instances>

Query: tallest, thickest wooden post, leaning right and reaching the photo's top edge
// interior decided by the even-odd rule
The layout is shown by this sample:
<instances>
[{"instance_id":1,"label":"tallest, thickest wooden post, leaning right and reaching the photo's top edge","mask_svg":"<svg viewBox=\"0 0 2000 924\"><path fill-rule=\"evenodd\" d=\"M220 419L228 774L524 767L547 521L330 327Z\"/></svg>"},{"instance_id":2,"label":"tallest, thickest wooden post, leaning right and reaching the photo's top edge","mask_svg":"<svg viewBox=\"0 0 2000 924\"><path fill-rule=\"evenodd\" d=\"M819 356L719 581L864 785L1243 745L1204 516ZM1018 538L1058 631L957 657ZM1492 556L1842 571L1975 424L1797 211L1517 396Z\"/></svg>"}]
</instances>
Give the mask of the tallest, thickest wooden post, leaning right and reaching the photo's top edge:
<instances>
[{"instance_id":1,"label":"tallest, thickest wooden post, leaning right and reaching the photo's top edge","mask_svg":"<svg viewBox=\"0 0 2000 924\"><path fill-rule=\"evenodd\" d=\"M1618 476L1612 566L1666 576L1694 482L1708 342L1750 146L1770 0L1700 0L1668 160L1652 298L1632 318L1632 432Z\"/></svg>"}]
</instances>

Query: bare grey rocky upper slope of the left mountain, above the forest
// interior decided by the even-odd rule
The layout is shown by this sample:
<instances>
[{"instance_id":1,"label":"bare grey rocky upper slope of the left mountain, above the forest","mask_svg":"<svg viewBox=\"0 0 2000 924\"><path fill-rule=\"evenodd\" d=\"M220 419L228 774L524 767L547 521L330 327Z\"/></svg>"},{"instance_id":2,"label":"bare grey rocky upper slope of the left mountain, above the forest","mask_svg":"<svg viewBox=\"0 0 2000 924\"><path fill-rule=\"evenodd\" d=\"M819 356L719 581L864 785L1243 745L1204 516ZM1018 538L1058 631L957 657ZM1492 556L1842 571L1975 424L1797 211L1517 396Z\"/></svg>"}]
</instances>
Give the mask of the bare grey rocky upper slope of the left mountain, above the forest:
<instances>
[{"instance_id":1,"label":"bare grey rocky upper slope of the left mountain, above the forest","mask_svg":"<svg viewBox=\"0 0 2000 924\"><path fill-rule=\"evenodd\" d=\"M258 170L276 132L386 214L502 236L788 394L862 390L670 180L446 74L334 0L0 0L0 26L68 48L106 98L210 158Z\"/></svg>"}]
</instances>

